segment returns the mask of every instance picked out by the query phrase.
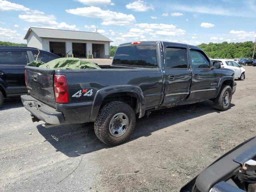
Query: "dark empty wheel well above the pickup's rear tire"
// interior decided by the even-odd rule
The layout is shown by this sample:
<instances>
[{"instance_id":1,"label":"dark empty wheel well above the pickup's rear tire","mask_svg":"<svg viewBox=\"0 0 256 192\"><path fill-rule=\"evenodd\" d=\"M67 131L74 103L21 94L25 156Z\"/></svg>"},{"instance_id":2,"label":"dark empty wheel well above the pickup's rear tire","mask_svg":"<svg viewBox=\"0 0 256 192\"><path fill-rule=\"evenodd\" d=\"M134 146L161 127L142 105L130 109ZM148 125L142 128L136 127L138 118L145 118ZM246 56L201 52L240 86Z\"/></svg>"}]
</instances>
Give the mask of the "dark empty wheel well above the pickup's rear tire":
<instances>
[{"instance_id":1,"label":"dark empty wheel well above the pickup's rear tire","mask_svg":"<svg viewBox=\"0 0 256 192\"><path fill-rule=\"evenodd\" d=\"M120 93L113 93L108 96L106 96L100 106L104 106L105 104L112 102L112 101L121 101L124 102L132 107L135 113L139 112L139 104L140 100L138 99L137 94L132 92L120 92Z\"/></svg>"}]
</instances>

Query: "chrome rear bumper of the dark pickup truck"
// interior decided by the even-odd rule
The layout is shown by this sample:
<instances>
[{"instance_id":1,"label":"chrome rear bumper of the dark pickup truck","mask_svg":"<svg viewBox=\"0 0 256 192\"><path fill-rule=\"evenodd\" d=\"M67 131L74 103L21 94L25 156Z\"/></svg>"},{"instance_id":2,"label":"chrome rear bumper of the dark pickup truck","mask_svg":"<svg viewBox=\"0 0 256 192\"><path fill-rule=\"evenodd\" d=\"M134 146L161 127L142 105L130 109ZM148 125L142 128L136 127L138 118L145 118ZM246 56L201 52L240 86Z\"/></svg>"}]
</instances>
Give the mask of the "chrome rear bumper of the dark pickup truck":
<instances>
[{"instance_id":1,"label":"chrome rear bumper of the dark pickup truck","mask_svg":"<svg viewBox=\"0 0 256 192\"><path fill-rule=\"evenodd\" d=\"M49 124L62 124L65 122L62 112L36 100L30 95L20 96L21 101L32 115Z\"/></svg>"}]
</instances>

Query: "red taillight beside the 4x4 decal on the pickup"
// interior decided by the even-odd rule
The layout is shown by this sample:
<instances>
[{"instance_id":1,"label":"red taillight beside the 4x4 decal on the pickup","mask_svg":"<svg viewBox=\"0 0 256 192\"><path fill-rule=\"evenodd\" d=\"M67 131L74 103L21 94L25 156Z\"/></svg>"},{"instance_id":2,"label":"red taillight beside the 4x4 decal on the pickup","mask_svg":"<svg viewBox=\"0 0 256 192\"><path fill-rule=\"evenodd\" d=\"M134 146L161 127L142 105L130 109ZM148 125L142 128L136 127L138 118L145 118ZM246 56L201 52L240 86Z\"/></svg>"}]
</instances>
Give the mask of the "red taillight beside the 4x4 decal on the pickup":
<instances>
[{"instance_id":1,"label":"red taillight beside the 4x4 decal on the pickup","mask_svg":"<svg viewBox=\"0 0 256 192\"><path fill-rule=\"evenodd\" d=\"M69 103L68 82L64 75L54 75L54 94L57 103Z\"/></svg>"}]
</instances>

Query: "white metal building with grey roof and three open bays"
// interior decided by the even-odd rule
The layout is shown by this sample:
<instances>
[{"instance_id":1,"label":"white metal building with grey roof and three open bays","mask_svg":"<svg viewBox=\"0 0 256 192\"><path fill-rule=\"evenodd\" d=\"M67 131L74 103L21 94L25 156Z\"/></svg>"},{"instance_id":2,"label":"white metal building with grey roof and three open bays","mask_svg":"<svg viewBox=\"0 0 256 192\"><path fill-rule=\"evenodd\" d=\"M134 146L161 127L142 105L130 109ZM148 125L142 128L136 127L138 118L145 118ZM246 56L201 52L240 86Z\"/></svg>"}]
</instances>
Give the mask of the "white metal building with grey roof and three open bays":
<instances>
[{"instance_id":1,"label":"white metal building with grey roof and three open bays","mask_svg":"<svg viewBox=\"0 0 256 192\"><path fill-rule=\"evenodd\" d=\"M100 33L37 27L30 27L24 39L28 47L80 58L109 58L112 42Z\"/></svg>"}]
</instances>

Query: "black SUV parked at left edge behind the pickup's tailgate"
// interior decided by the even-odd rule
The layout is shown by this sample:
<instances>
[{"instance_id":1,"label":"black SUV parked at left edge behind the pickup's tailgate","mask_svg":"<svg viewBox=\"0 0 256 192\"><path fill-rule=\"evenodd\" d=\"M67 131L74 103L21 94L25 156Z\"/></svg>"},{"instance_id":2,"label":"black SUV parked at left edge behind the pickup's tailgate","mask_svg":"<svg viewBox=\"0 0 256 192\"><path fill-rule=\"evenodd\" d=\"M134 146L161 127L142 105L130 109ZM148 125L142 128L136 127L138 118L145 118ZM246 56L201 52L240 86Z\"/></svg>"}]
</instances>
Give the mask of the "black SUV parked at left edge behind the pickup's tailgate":
<instances>
[{"instance_id":1,"label":"black SUV parked at left edge behind the pickup's tailgate","mask_svg":"<svg viewBox=\"0 0 256 192\"><path fill-rule=\"evenodd\" d=\"M4 98L26 94L25 66L36 60L48 62L60 56L31 47L0 46L0 107Z\"/></svg>"}]
</instances>

